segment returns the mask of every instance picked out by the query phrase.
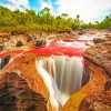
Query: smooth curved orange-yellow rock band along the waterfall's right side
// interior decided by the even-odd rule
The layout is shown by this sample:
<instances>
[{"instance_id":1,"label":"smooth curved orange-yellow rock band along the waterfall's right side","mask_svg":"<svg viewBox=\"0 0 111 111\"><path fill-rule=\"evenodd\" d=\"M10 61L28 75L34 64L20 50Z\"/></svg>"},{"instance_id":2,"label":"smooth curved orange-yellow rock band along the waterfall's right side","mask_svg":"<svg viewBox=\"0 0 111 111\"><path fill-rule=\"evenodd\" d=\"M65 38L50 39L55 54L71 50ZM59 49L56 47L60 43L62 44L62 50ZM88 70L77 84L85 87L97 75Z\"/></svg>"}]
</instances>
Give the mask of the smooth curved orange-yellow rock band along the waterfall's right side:
<instances>
[{"instance_id":1,"label":"smooth curved orange-yellow rock band along the waterfall's right side","mask_svg":"<svg viewBox=\"0 0 111 111\"><path fill-rule=\"evenodd\" d=\"M104 85L107 84L107 74L105 71L87 61L87 73L90 75L89 82L81 88L77 93L73 93L68 102L64 104L62 111L79 111L79 105L82 100L84 100L85 97L92 94L92 93L101 93L104 91ZM105 87L105 88L107 88ZM85 105L83 105L85 107ZM82 111L82 110L80 110ZM83 110L83 111L93 111L93 110ZM98 110L101 111L101 110Z\"/></svg>"}]
</instances>

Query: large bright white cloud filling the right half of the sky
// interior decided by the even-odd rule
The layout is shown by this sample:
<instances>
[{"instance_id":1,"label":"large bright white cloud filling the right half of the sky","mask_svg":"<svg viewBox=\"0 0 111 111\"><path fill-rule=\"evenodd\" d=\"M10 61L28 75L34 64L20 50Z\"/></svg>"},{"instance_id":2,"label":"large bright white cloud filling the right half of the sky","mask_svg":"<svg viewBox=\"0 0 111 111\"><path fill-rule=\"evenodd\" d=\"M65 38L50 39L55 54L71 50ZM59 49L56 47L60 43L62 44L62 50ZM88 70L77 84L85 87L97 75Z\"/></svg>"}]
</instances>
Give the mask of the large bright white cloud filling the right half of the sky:
<instances>
[{"instance_id":1,"label":"large bright white cloud filling the right half of the sky","mask_svg":"<svg viewBox=\"0 0 111 111\"><path fill-rule=\"evenodd\" d=\"M59 13L67 12L70 17L80 14L85 22L99 18L111 9L111 0L59 0Z\"/></svg>"}]
</instances>

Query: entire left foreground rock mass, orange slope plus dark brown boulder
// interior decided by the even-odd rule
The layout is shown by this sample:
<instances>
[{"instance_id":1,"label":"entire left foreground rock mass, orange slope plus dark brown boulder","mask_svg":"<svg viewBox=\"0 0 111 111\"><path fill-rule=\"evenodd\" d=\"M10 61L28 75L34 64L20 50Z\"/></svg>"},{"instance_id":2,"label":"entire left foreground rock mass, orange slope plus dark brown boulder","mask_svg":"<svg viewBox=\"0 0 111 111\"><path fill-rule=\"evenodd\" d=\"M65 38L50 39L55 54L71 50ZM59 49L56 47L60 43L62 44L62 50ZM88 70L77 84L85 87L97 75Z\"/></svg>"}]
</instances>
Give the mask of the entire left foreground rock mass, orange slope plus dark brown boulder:
<instances>
[{"instance_id":1,"label":"entire left foreground rock mass, orange slope plus dark brown boulder","mask_svg":"<svg viewBox=\"0 0 111 111\"><path fill-rule=\"evenodd\" d=\"M36 68L36 58L28 52L11 57L11 62L0 71L1 111L57 111Z\"/></svg>"}]
</instances>

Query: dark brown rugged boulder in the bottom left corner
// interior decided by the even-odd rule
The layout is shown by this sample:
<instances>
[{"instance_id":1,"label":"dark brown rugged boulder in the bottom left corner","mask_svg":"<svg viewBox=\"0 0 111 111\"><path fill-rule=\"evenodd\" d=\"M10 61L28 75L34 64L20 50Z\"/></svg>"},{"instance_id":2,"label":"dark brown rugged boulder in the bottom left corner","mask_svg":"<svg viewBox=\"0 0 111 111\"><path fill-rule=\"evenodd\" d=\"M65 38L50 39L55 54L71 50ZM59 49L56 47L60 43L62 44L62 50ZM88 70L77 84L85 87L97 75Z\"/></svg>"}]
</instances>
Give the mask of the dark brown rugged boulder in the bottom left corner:
<instances>
[{"instance_id":1,"label":"dark brown rugged boulder in the bottom left corner","mask_svg":"<svg viewBox=\"0 0 111 111\"><path fill-rule=\"evenodd\" d=\"M16 72L0 75L0 111L47 111L46 99Z\"/></svg>"}]
</instances>

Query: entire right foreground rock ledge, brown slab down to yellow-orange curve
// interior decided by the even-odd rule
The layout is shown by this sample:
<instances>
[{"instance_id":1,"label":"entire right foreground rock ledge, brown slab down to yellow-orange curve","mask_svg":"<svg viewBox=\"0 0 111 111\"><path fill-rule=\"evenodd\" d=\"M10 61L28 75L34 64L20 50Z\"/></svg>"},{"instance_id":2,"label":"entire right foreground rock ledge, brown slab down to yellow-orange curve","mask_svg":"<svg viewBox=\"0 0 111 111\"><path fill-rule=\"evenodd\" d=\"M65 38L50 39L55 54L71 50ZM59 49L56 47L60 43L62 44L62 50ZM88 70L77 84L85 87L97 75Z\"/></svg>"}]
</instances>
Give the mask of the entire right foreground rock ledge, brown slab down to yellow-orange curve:
<instances>
[{"instance_id":1,"label":"entire right foreground rock ledge, brown slab down to yellow-orange curve","mask_svg":"<svg viewBox=\"0 0 111 111\"><path fill-rule=\"evenodd\" d=\"M87 49L83 57L90 80L70 97L62 111L111 111L111 42Z\"/></svg>"}]
</instances>

